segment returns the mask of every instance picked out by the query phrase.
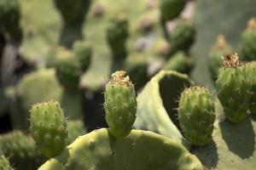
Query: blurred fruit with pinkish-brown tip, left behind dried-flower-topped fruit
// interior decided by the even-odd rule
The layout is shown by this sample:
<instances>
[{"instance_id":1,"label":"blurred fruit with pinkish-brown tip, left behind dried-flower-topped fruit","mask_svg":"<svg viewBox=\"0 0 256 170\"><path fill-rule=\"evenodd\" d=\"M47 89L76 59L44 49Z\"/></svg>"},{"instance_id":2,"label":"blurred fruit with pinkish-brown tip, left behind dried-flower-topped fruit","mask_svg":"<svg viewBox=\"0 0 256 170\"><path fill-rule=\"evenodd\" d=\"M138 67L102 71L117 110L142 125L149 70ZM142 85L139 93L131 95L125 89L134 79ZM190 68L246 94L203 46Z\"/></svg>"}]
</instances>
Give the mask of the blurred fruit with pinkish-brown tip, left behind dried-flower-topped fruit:
<instances>
[{"instance_id":1,"label":"blurred fruit with pinkish-brown tip, left behind dried-flower-topped fruit","mask_svg":"<svg viewBox=\"0 0 256 170\"><path fill-rule=\"evenodd\" d=\"M218 76L218 69L222 66L222 56L224 54L230 54L231 47L226 42L226 39L223 35L219 35L217 42L212 46L210 51L210 71L212 74L212 80L216 81Z\"/></svg>"}]
</instances>

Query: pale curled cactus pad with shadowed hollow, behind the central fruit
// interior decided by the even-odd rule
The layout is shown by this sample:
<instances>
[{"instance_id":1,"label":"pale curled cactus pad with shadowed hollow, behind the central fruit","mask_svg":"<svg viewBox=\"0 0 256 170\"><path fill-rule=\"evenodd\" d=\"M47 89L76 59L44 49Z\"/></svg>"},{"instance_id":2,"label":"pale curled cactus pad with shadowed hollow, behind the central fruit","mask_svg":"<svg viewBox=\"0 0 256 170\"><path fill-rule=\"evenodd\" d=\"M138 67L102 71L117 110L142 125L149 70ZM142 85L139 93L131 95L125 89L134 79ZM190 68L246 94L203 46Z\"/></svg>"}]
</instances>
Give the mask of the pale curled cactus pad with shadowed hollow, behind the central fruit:
<instances>
[{"instance_id":1,"label":"pale curled cactus pad with shadowed hollow, behind the central fruit","mask_svg":"<svg viewBox=\"0 0 256 170\"><path fill-rule=\"evenodd\" d=\"M134 126L187 144L177 128L179 123L175 109L180 93L190 84L187 75L177 71L160 71L137 96L137 119Z\"/></svg>"}]
</instances>

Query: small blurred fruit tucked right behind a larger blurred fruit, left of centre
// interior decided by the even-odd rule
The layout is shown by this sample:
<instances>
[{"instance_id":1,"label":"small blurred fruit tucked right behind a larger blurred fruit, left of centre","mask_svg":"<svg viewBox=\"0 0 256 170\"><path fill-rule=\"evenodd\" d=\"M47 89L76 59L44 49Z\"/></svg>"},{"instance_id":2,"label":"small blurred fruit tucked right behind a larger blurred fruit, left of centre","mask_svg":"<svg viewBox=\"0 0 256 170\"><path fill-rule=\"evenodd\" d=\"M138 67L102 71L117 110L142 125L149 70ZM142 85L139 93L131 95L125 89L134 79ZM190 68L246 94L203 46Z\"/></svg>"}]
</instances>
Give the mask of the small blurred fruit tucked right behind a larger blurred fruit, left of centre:
<instances>
[{"instance_id":1,"label":"small blurred fruit tucked right behind a larger blurred fruit, left of centre","mask_svg":"<svg viewBox=\"0 0 256 170\"><path fill-rule=\"evenodd\" d=\"M79 59L82 71L86 71L90 65L90 58L92 55L92 48L90 42L74 42L73 54Z\"/></svg>"}]
</instances>

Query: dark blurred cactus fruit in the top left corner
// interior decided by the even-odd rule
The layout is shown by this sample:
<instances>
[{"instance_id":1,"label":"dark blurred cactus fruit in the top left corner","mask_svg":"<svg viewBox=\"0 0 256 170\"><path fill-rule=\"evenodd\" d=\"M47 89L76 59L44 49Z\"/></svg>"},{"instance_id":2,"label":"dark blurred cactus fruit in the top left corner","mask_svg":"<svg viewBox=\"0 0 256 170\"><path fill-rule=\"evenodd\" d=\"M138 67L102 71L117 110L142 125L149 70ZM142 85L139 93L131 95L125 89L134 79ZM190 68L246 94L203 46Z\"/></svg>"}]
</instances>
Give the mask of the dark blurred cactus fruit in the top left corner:
<instances>
[{"instance_id":1,"label":"dark blurred cactus fruit in the top left corner","mask_svg":"<svg viewBox=\"0 0 256 170\"><path fill-rule=\"evenodd\" d=\"M10 38L20 40L20 1L0 1L0 29L7 33Z\"/></svg>"}]
</instances>

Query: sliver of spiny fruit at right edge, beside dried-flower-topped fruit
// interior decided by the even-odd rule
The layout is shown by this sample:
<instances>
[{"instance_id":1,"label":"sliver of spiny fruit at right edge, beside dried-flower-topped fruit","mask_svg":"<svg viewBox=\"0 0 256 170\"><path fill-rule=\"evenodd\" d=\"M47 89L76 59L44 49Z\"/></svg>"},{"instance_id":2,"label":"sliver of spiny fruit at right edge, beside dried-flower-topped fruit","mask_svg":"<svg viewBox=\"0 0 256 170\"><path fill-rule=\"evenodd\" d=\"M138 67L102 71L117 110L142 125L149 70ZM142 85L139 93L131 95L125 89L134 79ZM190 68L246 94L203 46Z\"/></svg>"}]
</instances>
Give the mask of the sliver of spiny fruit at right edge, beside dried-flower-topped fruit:
<instances>
[{"instance_id":1,"label":"sliver of spiny fruit at right edge, beside dried-flower-topped fruit","mask_svg":"<svg viewBox=\"0 0 256 170\"><path fill-rule=\"evenodd\" d=\"M249 110L253 115L256 114L256 61L251 61L246 64L246 72L249 76L249 81L252 83L250 92L252 98L249 105Z\"/></svg>"}]
</instances>

